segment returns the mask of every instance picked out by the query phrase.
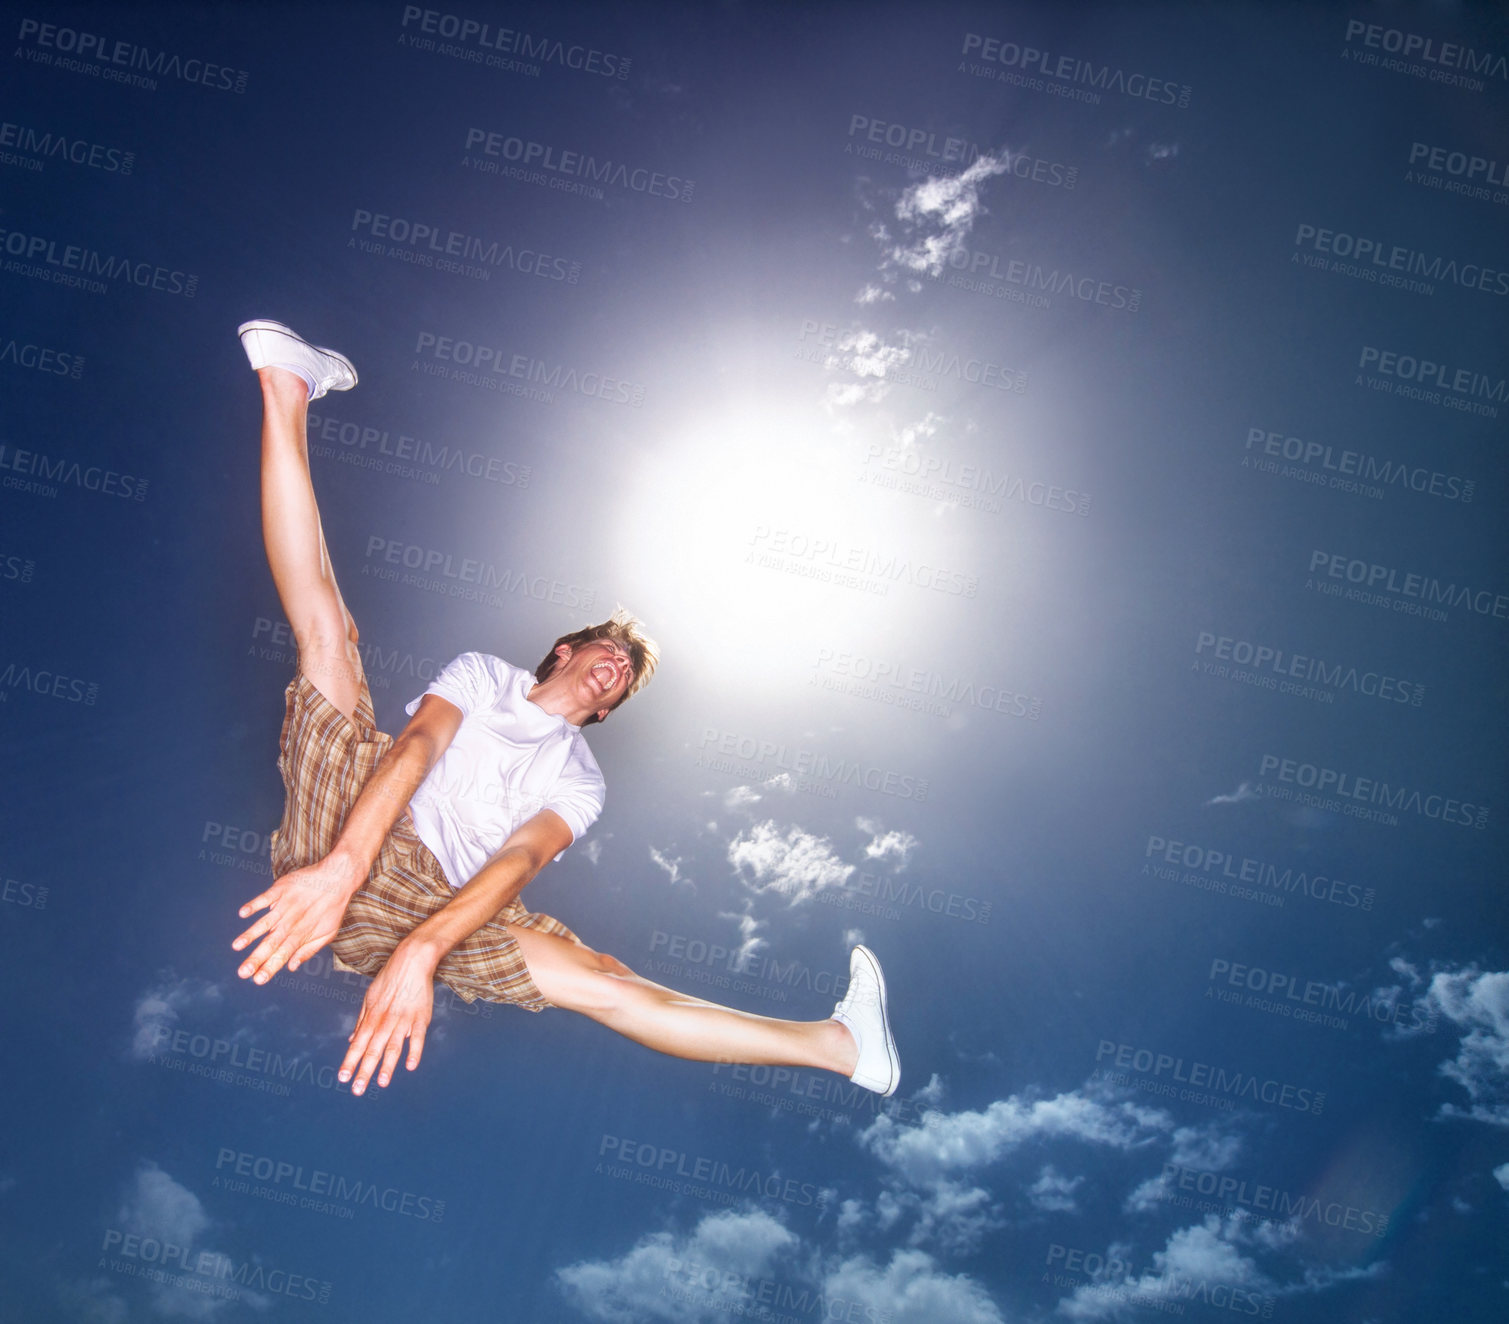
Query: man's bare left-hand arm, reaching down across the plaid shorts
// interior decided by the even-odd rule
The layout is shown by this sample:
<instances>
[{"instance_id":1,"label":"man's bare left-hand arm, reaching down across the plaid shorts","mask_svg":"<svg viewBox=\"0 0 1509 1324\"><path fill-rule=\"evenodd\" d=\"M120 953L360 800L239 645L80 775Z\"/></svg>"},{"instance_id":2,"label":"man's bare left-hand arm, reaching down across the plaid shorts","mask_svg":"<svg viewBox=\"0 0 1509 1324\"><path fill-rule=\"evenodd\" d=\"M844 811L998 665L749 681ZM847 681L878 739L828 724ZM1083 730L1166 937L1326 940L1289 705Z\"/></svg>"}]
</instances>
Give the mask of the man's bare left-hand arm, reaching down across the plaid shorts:
<instances>
[{"instance_id":1,"label":"man's bare left-hand arm, reaching down across the plaid shorts","mask_svg":"<svg viewBox=\"0 0 1509 1324\"><path fill-rule=\"evenodd\" d=\"M302 962L335 938L341 916L358 888L367 882L383 839L430 768L450 747L460 725L460 708L439 694L426 694L409 725L362 787L330 853L312 865L284 874L266 892L241 906L243 919L264 907L267 912L231 944L235 951L241 951L261 938L261 944L237 971L243 980L255 978L266 984L284 965L290 971L299 969Z\"/></svg>"}]
</instances>

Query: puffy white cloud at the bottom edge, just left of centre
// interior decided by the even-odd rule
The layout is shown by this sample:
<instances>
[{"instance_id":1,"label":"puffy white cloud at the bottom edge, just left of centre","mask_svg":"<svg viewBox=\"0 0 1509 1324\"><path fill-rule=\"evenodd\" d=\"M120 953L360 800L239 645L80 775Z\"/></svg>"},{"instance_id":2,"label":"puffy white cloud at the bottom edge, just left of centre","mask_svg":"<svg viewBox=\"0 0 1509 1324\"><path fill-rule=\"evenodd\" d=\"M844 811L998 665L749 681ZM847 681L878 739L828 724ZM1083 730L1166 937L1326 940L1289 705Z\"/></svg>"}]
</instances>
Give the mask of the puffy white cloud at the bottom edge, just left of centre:
<instances>
[{"instance_id":1,"label":"puffy white cloud at the bottom edge, just left of centre","mask_svg":"<svg viewBox=\"0 0 1509 1324\"><path fill-rule=\"evenodd\" d=\"M726 1209L708 1214L690 1235L650 1232L617 1259L567 1265L555 1282L590 1319L690 1324L753 1304L741 1295L742 1280L771 1276L777 1258L798 1244L770 1214Z\"/></svg>"}]
</instances>

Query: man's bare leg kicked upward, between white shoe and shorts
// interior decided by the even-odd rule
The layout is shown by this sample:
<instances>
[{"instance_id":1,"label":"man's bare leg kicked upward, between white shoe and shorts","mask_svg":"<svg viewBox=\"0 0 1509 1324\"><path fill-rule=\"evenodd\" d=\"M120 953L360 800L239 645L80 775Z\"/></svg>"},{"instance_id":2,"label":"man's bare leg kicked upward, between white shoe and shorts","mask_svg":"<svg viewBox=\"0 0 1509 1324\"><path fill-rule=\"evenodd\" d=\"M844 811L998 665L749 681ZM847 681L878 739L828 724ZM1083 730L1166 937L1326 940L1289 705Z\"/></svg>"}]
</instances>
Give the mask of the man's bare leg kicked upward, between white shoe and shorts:
<instances>
[{"instance_id":1,"label":"man's bare leg kicked upward, between white shoe and shorts","mask_svg":"<svg viewBox=\"0 0 1509 1324\"><path fill-rule=\"evenodd\" d=\"M257 376L263 385L267 565L299 646L299 670L350 717L362 687L362 657L356 651L356 622L335 583L309 479L309 388L284 368L261 368Z\"/></svg>"}]
</instances>

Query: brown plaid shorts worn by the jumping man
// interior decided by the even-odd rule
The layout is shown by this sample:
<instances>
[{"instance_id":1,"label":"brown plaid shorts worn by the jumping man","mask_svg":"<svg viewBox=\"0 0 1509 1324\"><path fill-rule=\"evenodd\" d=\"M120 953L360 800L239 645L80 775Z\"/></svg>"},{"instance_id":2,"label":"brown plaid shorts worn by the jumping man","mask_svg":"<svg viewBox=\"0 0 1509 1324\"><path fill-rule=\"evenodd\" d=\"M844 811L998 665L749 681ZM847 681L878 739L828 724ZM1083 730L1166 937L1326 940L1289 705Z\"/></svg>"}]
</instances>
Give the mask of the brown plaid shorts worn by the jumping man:
<instances>
[{"instance_id":1,"label":"brown plaid shorts worn by the jumping man","mask_svg":"<svg viewBox=\"0 0 1509 1324\"><path fill-rule=\"evenodd\" d=\"M355 722L330 704L303 672L288 682L284 694L287 711L278 770L287 800L282 823L272 836L275 879L330 853L358 794L392 746L392 737L376 728L365 678ZM330 942L335 966L376 975L398 941L453 895L439 861L420 841L406 809L377 851L367 882L346 907L341 928ZM581 942L558 919L525 910L524 903L515 898L450 951L435 977L468 1002L486 998L540 1011L551 1004L530 978L524 954L504 924Z\"/></svg>"}]
</instances>

